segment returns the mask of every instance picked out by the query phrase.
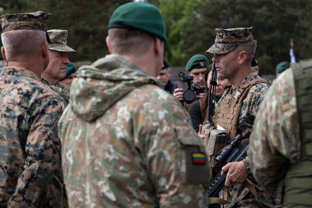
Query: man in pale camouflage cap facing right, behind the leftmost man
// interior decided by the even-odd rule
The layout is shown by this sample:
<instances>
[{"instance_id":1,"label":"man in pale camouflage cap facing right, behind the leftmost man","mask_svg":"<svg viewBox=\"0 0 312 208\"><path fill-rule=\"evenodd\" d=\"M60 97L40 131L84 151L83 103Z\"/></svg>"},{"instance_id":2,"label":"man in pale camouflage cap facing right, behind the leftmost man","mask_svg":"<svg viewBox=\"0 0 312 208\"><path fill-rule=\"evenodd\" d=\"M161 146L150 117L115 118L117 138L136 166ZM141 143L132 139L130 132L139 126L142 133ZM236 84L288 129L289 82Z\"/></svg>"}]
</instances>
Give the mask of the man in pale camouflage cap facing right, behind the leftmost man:
<instances>
[{"instance_id":1,"label":"man in pale camouflage cap facing right, behind the leftmost man","mask_svg":"<svg viewBox=\"0 0 312 208\"><path fill-rule=\"evenodd\" d=\"M44 85L53 89L60 94L68 104L70 92L69 89L59 83L60 80L66 77L66 65L70 62L66 56L67 52L75 52L68 47L67 30L48 30L51 43L48 45L50 62L46 70L42 73L41 81Z\"/></svg>"}]
</instances>

